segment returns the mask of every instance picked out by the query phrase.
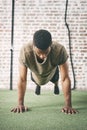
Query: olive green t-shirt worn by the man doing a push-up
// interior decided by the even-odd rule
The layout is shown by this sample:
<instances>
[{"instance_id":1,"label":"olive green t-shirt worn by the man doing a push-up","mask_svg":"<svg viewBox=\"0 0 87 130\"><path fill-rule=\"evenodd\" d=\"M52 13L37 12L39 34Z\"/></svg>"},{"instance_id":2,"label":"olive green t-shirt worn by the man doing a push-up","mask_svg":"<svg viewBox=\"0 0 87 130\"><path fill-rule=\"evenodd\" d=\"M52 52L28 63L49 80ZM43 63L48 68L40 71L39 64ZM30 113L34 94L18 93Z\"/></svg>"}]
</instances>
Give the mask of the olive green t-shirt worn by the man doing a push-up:
<instances>
[{"instance_id":1,"label":"olive green t-shirt worn by the man doing a push-up","mask_svg":"<svg viewBox=\"0 0 87 130\"><path fill-rule=\"evenodd\" d=\"M53 42L46 61L39 63L33 50L33 43L28 43L21 48L19 62L31 70L33 79L37 84L44 85L52 79L56 67L64 64L67 58L68 54L65 47Z\"/></svg>"}]
</instances>

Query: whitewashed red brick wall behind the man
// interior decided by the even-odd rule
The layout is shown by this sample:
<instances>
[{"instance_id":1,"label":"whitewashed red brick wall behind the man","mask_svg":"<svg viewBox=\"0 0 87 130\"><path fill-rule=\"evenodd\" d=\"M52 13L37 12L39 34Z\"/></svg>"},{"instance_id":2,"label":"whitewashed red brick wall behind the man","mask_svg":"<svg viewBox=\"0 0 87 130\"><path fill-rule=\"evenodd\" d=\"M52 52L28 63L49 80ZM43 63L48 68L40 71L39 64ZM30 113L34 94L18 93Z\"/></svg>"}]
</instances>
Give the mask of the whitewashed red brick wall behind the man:
<instances>
[{"instance_id":1,"label":"whitewashed red brick wall behind the man","mask_svg":"<svg viewBox=\"0 0 87 130\"><path fill-rule=\"evenodd\" d=\"M11 2L0 1L0 88L7 89L10 85ZM17 87L19 50L23 44L32 40L36 30L49 30L53 40L63 44L69 54L68 32L64 22L65 3L66 0L15 0L13 88ZM76 88L87 90L86 0L69 0L67 22L71 31ZM70 58L69 65L73 87ZM30 72L28 79L27 86L31 87Z\"/></svg>"}]
</instances>

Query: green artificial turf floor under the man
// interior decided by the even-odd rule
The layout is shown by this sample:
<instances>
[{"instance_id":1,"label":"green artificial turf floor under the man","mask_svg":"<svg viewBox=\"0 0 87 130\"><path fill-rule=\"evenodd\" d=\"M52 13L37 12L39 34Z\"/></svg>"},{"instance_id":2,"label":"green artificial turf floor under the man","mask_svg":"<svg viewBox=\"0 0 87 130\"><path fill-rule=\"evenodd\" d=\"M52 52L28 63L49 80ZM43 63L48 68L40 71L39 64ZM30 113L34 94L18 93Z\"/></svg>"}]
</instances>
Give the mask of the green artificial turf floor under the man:
<instances>
[{"instance_id":1,"label":"green artificial turf floor under the man","mask_svg":"<svg viewBox=\"0 0 87 130\"><path fill-rule=\"evenodd\" d=\"M27 91L25 104L30 111L11 113L17 105L17 91L0 90L0 130L87 130L87 91L72 91L73 106L79 114L61 112L63 94L54 95L50 90L40 96Z\"/></svg>"}]
</instances>

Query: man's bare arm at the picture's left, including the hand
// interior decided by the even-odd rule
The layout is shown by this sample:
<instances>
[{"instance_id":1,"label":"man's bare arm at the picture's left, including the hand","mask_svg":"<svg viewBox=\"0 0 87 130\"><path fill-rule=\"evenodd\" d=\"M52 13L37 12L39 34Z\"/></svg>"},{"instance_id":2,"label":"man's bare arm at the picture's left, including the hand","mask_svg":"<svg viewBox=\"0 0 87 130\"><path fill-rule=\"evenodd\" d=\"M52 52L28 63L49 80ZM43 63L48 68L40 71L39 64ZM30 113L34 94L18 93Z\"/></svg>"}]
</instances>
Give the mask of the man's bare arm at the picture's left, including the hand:
<instances>
[{"instance_id":1,"label":"man's bare arm at the picture's left, including the hand","mask_svg":"<svg viewBox=\"0 0 87 130\"><path fill-rule=\"evenodd\" d=\"M19 80L18 80L18 106L11 111L13 112L23 112L28 110L24 106L24 95L26 91L26 82L27 82L27 68L23 65L19 65Z\"/></svg>"}]
</instances>

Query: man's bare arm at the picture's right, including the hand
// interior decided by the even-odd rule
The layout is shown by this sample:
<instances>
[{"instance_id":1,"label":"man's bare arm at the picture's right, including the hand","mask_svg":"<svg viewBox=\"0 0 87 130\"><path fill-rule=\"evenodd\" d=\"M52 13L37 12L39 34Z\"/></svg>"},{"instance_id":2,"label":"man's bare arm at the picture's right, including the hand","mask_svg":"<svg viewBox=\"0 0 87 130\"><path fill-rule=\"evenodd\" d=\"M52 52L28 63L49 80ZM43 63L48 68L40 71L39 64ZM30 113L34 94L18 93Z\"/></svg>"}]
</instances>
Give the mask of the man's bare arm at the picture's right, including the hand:
<instances>
[{"instance_id":1,"label":"man's bare arm at the picture's right, including the hand","mask_svg":"<svg viewBox=\"0 0 87 130\"><path fill-rule=\"evenodd\" d=\"M62 80L62 89L65 98L65 107L62 109L64 113L76 113L76 110L72 108L71 102L71 81L68 74L68 64L65 62L59 66Z\"/></svg>"}]
</instances>

